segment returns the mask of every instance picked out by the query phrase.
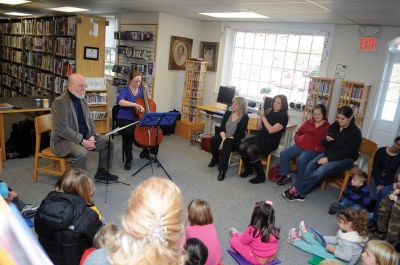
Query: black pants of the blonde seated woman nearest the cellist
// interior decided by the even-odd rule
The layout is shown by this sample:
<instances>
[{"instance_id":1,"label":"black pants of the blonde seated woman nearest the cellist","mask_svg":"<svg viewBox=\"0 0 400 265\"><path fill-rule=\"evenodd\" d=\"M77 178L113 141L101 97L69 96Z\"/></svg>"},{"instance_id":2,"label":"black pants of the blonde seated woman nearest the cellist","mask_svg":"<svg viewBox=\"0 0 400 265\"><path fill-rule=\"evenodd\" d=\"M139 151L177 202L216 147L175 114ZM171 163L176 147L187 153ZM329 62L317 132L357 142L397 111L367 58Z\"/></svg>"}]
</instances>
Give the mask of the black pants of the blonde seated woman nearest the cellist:
<instances>
[{"instance_id":1,"label":"black pants of the blonde seated woman nearest the cellist","mask_svg":"<svg viewBox=\"0 0 400 265\"><path fill-rule=\"evenodd\" d=\"M218 147L220 146L221 142L222 138L219 134L214 135L211 138L211 154L214 161L219 161L218 169L226 170L228 168L229 156L232 151L238 150L240 141L237 141L234 138L226 138L220 153Z\"/></svg>"}]
</instances>

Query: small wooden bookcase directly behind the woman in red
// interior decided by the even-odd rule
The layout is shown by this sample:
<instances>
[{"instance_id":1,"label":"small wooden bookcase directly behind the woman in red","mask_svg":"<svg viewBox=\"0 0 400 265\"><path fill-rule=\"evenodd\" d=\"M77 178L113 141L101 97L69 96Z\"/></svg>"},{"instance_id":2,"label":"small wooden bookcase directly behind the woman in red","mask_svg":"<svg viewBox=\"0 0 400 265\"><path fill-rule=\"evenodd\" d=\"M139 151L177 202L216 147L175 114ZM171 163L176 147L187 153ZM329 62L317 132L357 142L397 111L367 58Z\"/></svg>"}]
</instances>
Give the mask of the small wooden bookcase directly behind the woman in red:
<instances>
[{"instance_id":1,"label":"small wooden bookcase directly behind the woman in red","mask_svg":"<svg viewBox=\"0 0 400 265\"><path fill-rule=\"evenodd\" d=\"M327 112L329 112L334 85L335 79L317 76L310 77L303 121L312 117L312 110L318 104L324 104Z\"/></svg>"}]
</instances>

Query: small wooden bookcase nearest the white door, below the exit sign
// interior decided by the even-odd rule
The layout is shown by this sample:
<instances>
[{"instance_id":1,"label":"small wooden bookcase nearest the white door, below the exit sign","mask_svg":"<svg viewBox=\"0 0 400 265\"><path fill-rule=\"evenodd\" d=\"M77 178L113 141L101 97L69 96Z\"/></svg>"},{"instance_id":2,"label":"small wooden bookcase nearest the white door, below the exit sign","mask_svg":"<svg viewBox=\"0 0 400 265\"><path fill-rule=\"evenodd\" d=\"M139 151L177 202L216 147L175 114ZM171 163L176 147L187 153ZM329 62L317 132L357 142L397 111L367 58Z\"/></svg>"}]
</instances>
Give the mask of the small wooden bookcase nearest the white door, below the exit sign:
<instances>
[{"instance_id":1,"label":"small wooden bookcase nearest the white door, below the exit sign","mask_svg":"<svg viewBox=\"0 0 400 265\"><path fill-rule=\"evenodd\" d=\"M345 105L350 106L353 109L356 124L362 128L371 85L343 80L340 87L337 108Z\"/></svg>"}]
</instances>

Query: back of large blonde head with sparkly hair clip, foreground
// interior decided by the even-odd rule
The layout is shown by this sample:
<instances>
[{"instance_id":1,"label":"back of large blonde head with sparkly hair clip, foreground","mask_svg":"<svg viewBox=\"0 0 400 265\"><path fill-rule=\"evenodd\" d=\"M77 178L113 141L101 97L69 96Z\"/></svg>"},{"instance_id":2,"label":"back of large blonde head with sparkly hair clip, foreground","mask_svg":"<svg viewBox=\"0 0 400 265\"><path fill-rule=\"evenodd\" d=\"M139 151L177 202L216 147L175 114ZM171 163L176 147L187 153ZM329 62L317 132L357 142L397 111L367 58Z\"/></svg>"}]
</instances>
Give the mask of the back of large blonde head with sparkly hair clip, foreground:
<instances>
[{"instance_id":1,"label":"back of large blonde head with sparkly hair clip, foreground","mask_svg":"<svg viewBox=\"0 0 400 265\"><path fill-rule=\"evenodd\" d=\"M170 180L152 177L132 192L109 260L113 265L183 264L182 231L179 188Z\"/></svg>"}]
</instances>

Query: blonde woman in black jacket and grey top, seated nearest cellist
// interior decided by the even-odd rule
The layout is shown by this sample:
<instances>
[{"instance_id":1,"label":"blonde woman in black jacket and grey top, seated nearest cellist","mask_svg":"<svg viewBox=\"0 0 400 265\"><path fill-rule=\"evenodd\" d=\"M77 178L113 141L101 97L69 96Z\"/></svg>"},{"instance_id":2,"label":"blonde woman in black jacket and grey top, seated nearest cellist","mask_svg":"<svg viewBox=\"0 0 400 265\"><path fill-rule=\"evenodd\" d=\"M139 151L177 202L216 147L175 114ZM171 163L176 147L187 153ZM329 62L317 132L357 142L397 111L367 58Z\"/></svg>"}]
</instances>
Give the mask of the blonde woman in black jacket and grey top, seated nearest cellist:
<instances>
[{"instance_id":1,"label":"blonde woman in black jacket and grey top, seated nearest cellist","mask_svg":"<svg viewBox=\"0 0 400 265\"><path fill-rule=\"evenodd\" d=\"M221 123L221 132L211 138L211 162L208 167L218 164L218 180L223 181L228 170L229 156L238 150L239 144L246 135L247 102L244 97L232 100L232 111L226 111ZM221 149L221 153L219 152Z\"/></svg>"}]
</instances>

